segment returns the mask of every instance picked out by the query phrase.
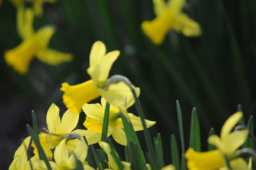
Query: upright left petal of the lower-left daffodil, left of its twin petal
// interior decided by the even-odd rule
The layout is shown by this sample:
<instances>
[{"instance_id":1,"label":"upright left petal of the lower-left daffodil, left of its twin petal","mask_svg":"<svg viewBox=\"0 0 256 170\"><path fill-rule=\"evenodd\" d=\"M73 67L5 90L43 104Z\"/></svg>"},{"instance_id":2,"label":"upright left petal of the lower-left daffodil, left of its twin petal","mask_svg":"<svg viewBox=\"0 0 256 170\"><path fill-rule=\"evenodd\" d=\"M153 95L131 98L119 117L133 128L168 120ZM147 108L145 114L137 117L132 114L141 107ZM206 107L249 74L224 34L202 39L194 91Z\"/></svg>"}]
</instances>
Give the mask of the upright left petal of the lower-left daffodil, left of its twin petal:
<instances>
[{"instance_id":1,"label":"upright left petal of the lower-left daffodil, left of its twin petal","mask_svg":"<svg viewBox=\"0 0 256 170\"><path fill-rule=\"evenodd\" d=\"M50 132L61 134L60 109L55 104L52 104L47 111L46 122Z\"/></svg>"}]
</instances>

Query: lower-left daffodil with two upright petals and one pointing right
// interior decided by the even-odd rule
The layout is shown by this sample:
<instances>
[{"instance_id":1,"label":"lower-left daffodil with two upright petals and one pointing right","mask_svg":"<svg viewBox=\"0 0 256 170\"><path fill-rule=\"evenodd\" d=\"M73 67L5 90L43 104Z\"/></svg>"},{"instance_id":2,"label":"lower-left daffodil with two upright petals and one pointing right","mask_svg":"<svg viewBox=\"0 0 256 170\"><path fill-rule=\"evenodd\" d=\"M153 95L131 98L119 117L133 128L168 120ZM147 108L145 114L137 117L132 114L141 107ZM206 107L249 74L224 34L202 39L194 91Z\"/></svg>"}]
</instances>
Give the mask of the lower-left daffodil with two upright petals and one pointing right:
<instances>
[{"instance_id":1,"label":"lower-left daffodil with two upright petals and one pointing right","mask_svg":"<svg viewBox=\"0 0 256 170\"><path fill-rule=\"evenodd\" d=\"M69 139L67 141L68 150L70 152L76 148L79 144L79 139L85 136L88 144L97 143L100 141L101 134L90 130L73 130L78 123L79 114L73 114L67 110L60 120L60 109L52 104L49 108L46 116L48 133L45 135L47 145L53 149L55 148L63 138Z\"/></svg>"}]
</instances>

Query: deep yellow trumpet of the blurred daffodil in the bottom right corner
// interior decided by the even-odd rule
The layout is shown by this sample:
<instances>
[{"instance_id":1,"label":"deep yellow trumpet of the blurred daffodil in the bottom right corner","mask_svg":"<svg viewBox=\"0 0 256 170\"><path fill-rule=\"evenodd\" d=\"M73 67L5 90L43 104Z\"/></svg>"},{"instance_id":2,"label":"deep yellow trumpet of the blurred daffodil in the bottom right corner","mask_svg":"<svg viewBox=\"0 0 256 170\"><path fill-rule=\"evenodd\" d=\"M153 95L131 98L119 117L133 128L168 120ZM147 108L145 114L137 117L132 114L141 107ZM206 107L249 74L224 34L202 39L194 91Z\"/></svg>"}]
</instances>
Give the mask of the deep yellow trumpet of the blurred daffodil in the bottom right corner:
<instances>
[{"instance_id":1,"label":"deep yellow trumpet of the blurred daffodil in the bottom right corner","mask_svg":"<svg viewBox=\"0 0 256 170\"><path fill-rule=\"evenodd\" d=\"M185 157L187 159L187 167L191 170L213 170L224 166L223 157L219 150L196 152L193 148L189 148L185 153Z\"/></svg>"}]
</instances>

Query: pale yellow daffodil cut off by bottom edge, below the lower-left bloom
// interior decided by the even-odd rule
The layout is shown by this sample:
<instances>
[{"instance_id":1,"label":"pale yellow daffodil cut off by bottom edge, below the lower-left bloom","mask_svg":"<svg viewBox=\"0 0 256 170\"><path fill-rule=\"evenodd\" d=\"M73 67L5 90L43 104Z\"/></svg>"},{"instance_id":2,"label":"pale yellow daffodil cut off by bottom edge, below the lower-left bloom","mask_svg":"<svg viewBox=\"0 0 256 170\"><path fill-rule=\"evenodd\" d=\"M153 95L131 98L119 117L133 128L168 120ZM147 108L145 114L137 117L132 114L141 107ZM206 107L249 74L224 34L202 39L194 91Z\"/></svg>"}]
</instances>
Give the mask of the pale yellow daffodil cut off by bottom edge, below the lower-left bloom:
<instances>
[{"instance_id":1,"label":"pale yellow daffodil cut off by bottom edge, below the lower-left bloom","mask_svg":"<svg viewBox=\"0 0 256 170\"><path fill-rule=\"evenodd\" d=\"M55 162L50 162L52 169L74 169L76 167L76 158L84 163L84 160L87 156L88 147L84 141L81 139L81 143L77 148L72 152L72 155L68 155L68 148L66 139L63 139L56 149L54 150L54 160ZM84 169L93 169L86 164L83 164Z\"/></svg>"}]
</instances>

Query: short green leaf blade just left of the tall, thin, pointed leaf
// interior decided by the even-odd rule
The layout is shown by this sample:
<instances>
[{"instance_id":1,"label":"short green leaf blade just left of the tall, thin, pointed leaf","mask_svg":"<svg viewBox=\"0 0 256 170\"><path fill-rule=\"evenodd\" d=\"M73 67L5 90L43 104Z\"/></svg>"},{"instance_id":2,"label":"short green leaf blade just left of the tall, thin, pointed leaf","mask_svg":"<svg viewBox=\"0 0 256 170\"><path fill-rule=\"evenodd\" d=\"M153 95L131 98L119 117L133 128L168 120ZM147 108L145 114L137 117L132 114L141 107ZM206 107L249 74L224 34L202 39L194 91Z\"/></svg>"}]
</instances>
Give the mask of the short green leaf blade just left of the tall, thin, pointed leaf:
<instances>
[{"instance_id":1,"label":"short green leaf blade just left of the tall, thin, pointed leaf","mask_svg":"<svg viewBox=\"0 0 256 170\"><path fill-rule=\"evenodd\" d=\"M171 153L172 153L172 164L176 169L180 169L179 150L175 135L171 135Z\"/></svg>"}]
</instances>

